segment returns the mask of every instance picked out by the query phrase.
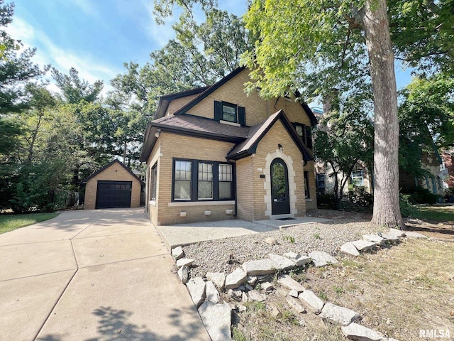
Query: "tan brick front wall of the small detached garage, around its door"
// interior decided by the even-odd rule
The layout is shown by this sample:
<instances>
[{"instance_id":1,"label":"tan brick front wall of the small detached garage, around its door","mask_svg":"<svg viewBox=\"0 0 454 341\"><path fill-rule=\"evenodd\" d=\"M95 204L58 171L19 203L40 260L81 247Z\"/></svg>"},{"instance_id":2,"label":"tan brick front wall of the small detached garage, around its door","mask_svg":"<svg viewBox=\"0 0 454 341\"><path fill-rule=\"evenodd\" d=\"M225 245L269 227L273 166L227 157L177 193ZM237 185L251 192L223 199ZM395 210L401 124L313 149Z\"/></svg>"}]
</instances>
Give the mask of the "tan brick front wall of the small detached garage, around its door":
<instances>
[{"instance_id":1,"label":"tan brick front wall of the small detached garage, around its door","mask_svg":"<svg viewBox=\"0 0 454 341\"><path fill-rule=\"evenodd\" d=\"M131 207L140 206L140 181L134 175L126 171L120 163L113 163L108 168L100 173L94 175L87 181L85 186L85 202L84 210L94 210L96 206L96 191L98 189L98 181L132 181L133 186L131 190Z\"/></svg>"}]
</instances>

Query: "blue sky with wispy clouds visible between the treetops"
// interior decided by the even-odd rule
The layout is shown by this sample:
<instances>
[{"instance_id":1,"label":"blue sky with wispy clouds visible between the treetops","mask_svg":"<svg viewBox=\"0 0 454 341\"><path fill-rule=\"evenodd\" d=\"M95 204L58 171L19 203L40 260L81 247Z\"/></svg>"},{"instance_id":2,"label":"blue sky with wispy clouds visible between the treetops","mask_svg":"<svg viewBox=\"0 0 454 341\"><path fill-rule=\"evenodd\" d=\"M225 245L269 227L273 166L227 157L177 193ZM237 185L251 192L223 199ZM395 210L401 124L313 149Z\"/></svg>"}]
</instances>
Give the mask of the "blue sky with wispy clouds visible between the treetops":
<instances>
[{"instance_id":1,"label":"blue sky with wispy clouds visible between the treetops","mask_svg":"<svg viewBox=\"0 0 454 341\"><path fill-rule=\"evenodd\" d=\"M84 80L104 80L106 90L110 89L109 80L124 71L123 63L144 65L150 52L173 38L171 26L177 19L167 18L165 26L157 25L153 0L13 2L16 9L8 31L24 45L38 49L35 63L51 64L64 73L76 67ZM221 9L238 16L246 10L246 0L219 3ZM398 72L398 87L409 80L408 71Z\"/></svg>"}]
</instances>

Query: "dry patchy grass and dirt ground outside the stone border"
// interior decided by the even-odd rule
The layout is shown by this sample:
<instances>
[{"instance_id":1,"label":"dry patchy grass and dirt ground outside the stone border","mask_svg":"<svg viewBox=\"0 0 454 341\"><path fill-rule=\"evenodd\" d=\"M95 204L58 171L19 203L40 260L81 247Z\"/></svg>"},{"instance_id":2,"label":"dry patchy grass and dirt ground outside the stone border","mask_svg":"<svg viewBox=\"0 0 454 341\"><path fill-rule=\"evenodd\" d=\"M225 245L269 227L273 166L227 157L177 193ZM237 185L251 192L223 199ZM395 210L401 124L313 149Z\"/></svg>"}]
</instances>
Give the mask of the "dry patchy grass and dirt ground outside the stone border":
<instances>
[{"instance_id":1,"label":"dry patchy grass and dirt ground outside the stone border","mask_svg":"<svg viewBox=\"0 0 454 341\"><path fill-rule=\"evenodd\" d=\"M350 215L323 213L333 219ZM386 337L431 340L419 337L419 330L436 329L449 330L451 337L445 340L454 340L454 226L422 220L406 224L429 239L405 239L355 258L340 256L336 265L309 267L290 275L323 301L357 311L360 324ZM270 278L275 290L265 303L226 298L247 308L234 314L234 340L346 340L338 326L313 313L294 311L276 279Z\"/></svg>"}]
</instances>

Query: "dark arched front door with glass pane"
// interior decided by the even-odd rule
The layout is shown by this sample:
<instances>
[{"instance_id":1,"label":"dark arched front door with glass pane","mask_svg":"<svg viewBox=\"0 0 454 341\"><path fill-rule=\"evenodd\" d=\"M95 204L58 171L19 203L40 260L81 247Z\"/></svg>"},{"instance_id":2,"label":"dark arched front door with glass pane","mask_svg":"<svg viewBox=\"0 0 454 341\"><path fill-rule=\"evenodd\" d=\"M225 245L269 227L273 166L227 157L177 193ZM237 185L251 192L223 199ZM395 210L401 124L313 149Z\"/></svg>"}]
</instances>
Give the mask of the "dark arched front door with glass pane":
<instances>
[{"instance_id":1,"label":"dark arched front door with glass pane","mask_svg":"<svg viewBox=\"0 0 454 341\"><path fill-rule=\"evenodd\" d=\"M282 158L275 158L271 163L271 214L287 215L290 213L289 173Z\"/></svg>"}]
</instances>

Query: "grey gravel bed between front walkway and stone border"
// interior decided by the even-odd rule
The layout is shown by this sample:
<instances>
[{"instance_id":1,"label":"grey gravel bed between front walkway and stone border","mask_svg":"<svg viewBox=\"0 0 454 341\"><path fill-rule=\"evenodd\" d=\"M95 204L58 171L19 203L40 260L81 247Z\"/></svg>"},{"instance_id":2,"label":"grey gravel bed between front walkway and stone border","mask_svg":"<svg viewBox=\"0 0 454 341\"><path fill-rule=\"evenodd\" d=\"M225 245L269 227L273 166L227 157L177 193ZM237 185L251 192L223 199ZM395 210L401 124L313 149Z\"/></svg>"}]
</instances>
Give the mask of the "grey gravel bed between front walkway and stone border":
<instances>
[{"instance_id":1,"label":"grey gravel bed between front walkway and stone border","mask_svg":"<svg viewBox=\"0 0 454 341\"><path fill-rule=\"evenodd\" d=\"M325 251L336 256L339 253L338 249L345 242L361 239L362 234L379 231L377 225L371 224L362 215L340 215L338 211L323 211L325 211L323 217L335 219L330 222L301 224L282 230L199 242L183 247L185 256L195 259L189 275L205 276L207 272L229 274L245 261L267 258L269 253L307 254L311 251ZM316 213L312 212L311 215L316 216ZM267 244L265 242L267 237L274 237L278 244Z\"/></svg>"}]
</instances>

